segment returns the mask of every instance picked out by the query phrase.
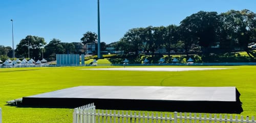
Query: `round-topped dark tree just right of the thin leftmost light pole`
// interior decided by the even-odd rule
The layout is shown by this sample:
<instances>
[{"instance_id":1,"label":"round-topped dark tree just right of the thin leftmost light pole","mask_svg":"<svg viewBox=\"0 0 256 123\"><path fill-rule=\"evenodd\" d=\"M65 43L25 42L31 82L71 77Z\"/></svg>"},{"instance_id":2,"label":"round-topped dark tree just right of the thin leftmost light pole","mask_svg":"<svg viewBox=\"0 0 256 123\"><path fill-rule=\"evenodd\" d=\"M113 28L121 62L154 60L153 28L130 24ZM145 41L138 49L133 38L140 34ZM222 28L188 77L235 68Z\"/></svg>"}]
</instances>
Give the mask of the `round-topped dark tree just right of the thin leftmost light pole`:
<instances>
[{"instance_id":1,"label":"round-topped dark tree just right of the thin leftmost light pole","mask_svg":"<svg viewBox=\"0 0 256 123\"><path fill-rule=\"evenodd\" d=\"M39 58L40 48L46 44L45 39L38 36L28 35L26 38L20 40L16 45L17 54L20 56ZM30 48L30 53L28 53L28 48Z\"/></svg>"}]
</instances>

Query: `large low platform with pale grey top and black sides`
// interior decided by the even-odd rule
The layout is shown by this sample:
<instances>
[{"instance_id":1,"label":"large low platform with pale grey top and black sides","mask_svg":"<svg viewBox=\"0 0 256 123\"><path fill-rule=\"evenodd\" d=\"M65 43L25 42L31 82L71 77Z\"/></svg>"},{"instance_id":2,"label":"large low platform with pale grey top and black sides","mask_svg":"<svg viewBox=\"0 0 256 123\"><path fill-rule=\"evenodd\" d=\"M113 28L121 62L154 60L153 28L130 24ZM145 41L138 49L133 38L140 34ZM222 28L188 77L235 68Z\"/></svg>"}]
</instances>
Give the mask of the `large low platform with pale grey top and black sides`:
<instances>
[{"instance_id":1,"label":"large low platform with pale grey top and black sides","mask_svg":"<svg viewBox=\"0 0 256 123\"><path fill-rule=\"evenodd\" d=\"M241 113L236 87L78 86L23 97L22 106Z\"/></svg>"}]
</instances>

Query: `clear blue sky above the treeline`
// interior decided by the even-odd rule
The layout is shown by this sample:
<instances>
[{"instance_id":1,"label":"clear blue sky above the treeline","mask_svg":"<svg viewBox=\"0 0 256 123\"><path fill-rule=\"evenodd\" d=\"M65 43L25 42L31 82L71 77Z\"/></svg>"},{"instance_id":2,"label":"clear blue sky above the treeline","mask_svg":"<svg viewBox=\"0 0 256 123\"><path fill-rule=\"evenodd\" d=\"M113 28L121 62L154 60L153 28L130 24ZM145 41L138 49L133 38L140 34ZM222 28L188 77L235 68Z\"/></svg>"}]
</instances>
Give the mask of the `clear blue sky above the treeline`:
<instances>
[{"instance_id":1,"label":"clear blue sky above the treeline","mask_svg":"<svg viewBox=\"0 0 256 123\"><path fill-rule=\"evenodd\" d=\"M100 0L100 39L107 44L132 28L179 25L199 11L249 9L256 13L255 0ZM49 43L80 42L87 31L97 33L97 0L2 0L0 45L14 46L27 35L44 37ZM15 47L14 47L15 48Z\"/></svg>"}]
</instances>

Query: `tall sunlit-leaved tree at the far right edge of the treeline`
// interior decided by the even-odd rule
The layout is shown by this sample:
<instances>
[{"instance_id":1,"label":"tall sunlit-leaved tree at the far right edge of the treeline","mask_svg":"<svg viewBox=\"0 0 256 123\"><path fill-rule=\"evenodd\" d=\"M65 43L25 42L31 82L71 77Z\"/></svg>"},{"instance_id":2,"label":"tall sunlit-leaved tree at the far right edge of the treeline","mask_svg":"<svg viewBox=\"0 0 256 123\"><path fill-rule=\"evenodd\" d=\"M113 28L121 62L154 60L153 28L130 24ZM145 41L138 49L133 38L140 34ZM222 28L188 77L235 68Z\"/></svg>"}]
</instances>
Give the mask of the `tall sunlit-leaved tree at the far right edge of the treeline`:
<instances>
[{"instance_id":1,"label":"tall sunlit-leaved tree at the far right edge of the treeline","mask_svg":"<svg viewBox=\"0 0 256 123\"><path fill-rule=\"evenodd\" d=\"M222 34L227 36L223 41L234 41L238 47L243 49L250 57L256 57L248 44L256 37L256 14L250 10L230 10L221 14L223 23Z\"/></svg>"}]
</instances>

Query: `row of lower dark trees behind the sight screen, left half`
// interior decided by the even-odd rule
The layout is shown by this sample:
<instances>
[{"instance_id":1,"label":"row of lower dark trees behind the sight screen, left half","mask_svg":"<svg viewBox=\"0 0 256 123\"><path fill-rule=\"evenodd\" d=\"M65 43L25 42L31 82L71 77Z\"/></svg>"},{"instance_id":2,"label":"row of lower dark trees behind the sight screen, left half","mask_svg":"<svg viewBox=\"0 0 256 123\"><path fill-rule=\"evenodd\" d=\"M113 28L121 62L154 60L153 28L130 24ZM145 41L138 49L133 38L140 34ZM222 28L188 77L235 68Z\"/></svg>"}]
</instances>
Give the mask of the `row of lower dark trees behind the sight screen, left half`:
<instances>
[{"instance_id":1,"label":"row of lower dark trees behind the sight screen, left half","mask_svg":"<svg viewBox=\"0 0 256 123\"><path fill-rule=\"evenodd\" d=\"M97 34L87 32L83 34L81 43L87 44L97 41ZM75 42L67 43L61 42L59 39L52 39L47 45L42 37L28 35L26 38L20 40L16 45L16 58L35 58L35 59L56 59L56 54L81 54L79 49L75 48ZM101 42L101 50L104 51L106 47L105 42ZM97 49L96 49L97 50ZM12 58L12 47L0 45L0 59L6 60L8 57Z\"/></svg>"}]
</instances>

